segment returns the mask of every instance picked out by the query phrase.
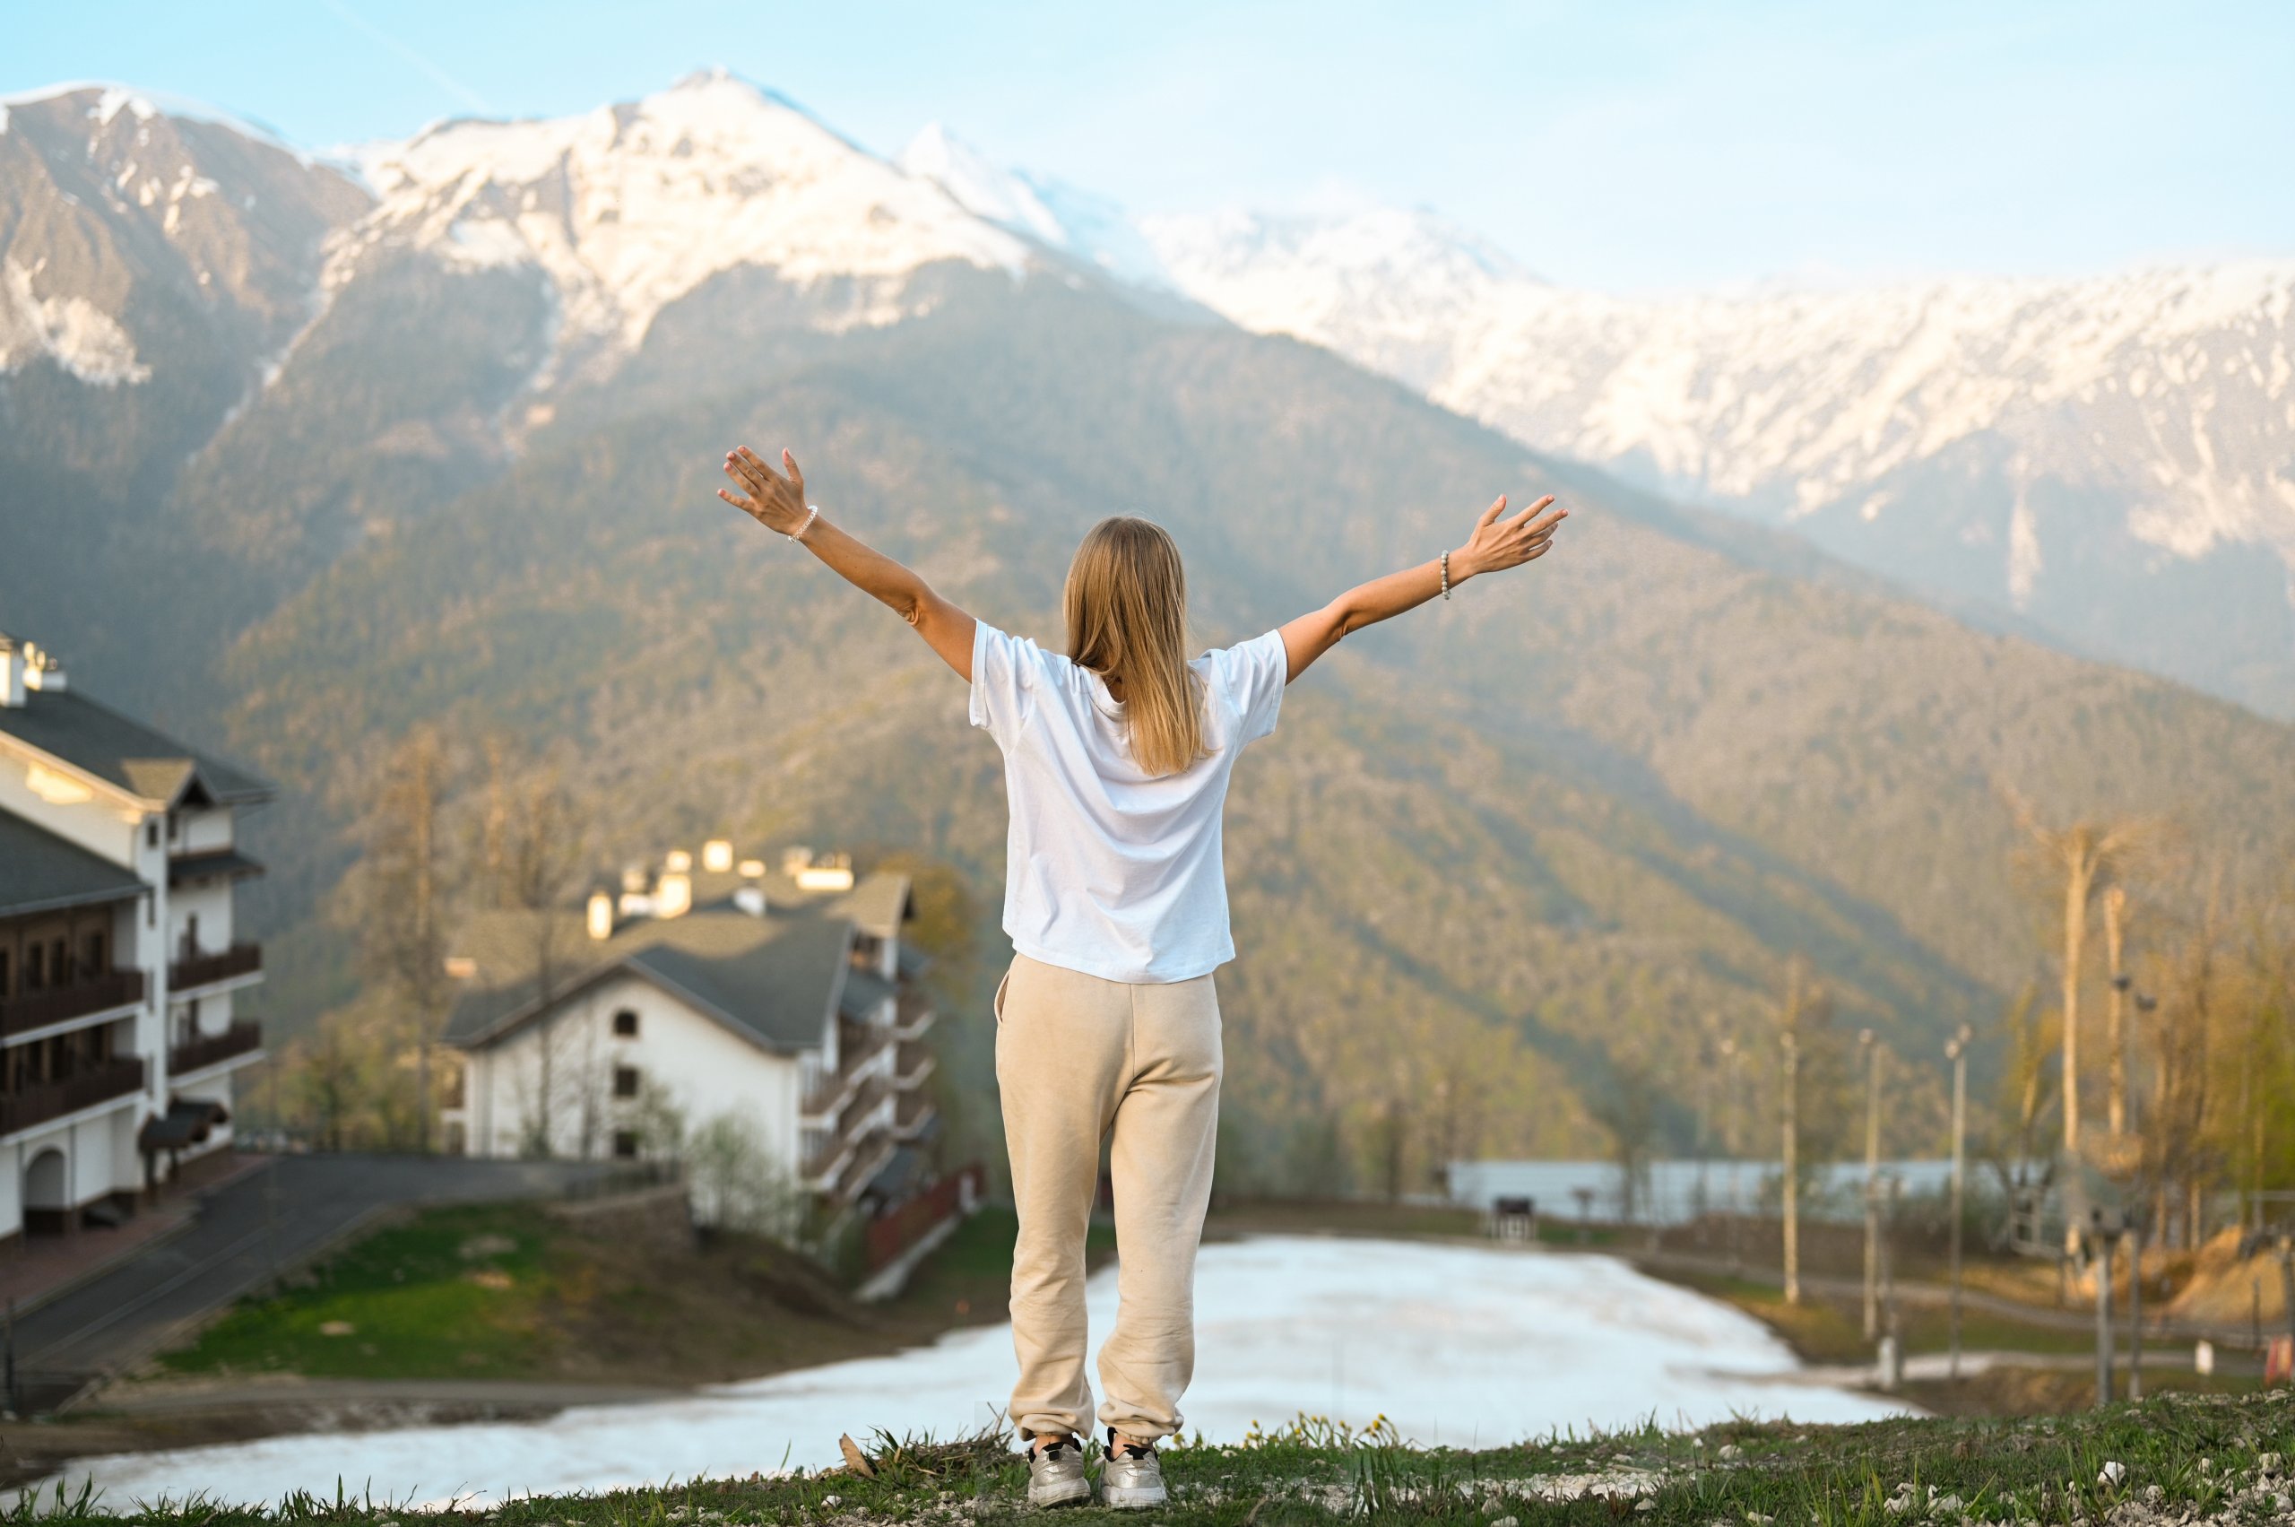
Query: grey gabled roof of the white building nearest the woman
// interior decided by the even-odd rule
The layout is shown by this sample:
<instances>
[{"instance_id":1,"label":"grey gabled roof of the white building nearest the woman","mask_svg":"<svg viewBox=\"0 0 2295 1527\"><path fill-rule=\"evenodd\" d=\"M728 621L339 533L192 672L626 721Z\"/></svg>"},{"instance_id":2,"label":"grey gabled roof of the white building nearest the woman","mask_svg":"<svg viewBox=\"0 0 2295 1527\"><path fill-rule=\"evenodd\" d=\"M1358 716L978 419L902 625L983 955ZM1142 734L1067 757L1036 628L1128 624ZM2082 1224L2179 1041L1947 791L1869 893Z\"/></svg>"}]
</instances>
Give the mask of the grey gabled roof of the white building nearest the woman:
<instances>
[{"instance_id":1,"label":"grey gabled roof of the white building nearest the woman","mask_svg":"<svg viewBox=\"0 0 2295 1527\"><path fill-rule=\"evenodd\" d=\"M604 941L590 939L578 916L560 921L551 951L560 1001L629 971L767 1049L819 1045L851 969L851 923L842 918L688 912L629 923ZM480 1045L535 1015L535 946L537 925L526 914L487 914L470 925L457 953L477 962L477 976L454 1003L448 1042Z\"/></svg>"}]
</instances>

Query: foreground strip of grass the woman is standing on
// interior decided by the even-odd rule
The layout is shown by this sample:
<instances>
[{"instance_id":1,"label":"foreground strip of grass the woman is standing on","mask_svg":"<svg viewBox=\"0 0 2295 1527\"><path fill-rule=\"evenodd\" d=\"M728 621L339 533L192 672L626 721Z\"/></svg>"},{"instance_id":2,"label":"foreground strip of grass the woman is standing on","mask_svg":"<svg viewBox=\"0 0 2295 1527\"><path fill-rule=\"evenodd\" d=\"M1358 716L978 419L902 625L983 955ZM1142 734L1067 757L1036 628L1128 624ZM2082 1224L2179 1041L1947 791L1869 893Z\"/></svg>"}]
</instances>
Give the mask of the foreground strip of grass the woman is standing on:
<instances>
[{"instance_id":1,"label":"foreground strip of grass the woman is standing on","mask_svg":"<svg viewBox=\"0 0 2295 1527\"><path fill-rule=\"evenodd\" d=\"M2295 1403L2270 1396L2173 1396L2036 1421L1900 1419L1868 1426L1735 1421L1701 1433L1655 1426L1561 1435L1506 1449L1416 1449L1384 1424L1349 1433L1301 1419L1237 1447L1168 1447L1168 1509L1157 1527L1287 1527L1324 1522L1712 1522L1767 1527L1900 1527L1909 1522L2263 1522L2288 1520L2284 1472L2295 1456ZM1026 1467L1005 1437L870 1449L874 1476L845 1470L783 1479L693 1481L675 1488L562 1495L438 1513L477 1527L767 1527L794 1522L1017 1522ZM2107 1472L2118 1465L2118 1474ZM1639 1502L1648 1502L1639 1506ZM397 1527L404 1509L333 1488L278 1506L126 1504L62 1488L57 1520L168 1527L360 1522ZM25 1522L32 1506L18 1506ZM1099 1520L1079 1509L1065 1520Z\"/></svg>"}]
</instances>

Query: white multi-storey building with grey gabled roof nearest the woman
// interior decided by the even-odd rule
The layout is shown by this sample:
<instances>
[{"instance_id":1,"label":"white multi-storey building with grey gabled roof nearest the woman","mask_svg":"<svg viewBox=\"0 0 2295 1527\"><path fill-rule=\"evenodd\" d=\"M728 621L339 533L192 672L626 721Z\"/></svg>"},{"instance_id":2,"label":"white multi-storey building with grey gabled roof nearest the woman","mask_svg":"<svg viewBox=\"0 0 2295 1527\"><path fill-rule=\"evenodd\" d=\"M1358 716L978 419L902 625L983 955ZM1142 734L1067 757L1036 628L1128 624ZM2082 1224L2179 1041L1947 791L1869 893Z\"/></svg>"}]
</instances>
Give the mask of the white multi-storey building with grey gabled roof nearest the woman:
<instances>
[{"instance_id":1,"label":"white multi-storey building with grey gabled roof nearest the woman","mask_svg":"<svg viewBox=\"0 0 2295 1527\"><path fill-rule=\"evenodd\" d=\"M688 1132L741 1121L831 1210L884 1210L927 1176L934 1127L911 916L907 875L856 884L808 850L769 870L723 840L578 907L482 914L448 960L448 1148L659 1157L666 1102Z\"/></svg>"}]
</instances>

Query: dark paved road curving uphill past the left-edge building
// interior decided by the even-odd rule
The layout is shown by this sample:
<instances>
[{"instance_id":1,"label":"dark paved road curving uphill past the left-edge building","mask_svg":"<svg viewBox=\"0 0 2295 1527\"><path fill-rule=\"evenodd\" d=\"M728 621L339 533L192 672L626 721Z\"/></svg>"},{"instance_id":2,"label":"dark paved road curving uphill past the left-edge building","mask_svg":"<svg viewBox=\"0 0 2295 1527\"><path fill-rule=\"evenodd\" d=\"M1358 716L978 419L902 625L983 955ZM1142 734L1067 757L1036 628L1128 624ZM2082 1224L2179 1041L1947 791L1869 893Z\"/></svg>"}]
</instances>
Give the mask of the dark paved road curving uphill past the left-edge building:
<instances>
[{"instance_id":1,"label":"dark paved road curving uphill past the left-edge building","mask_svg":"<svg viewBox=\"0 0 2295 1527\"><path fill-rule=\"evenodd\" d=\"M285 1155L216 1189L179 1235L16 1320L25 1410L50 1410L149 1357L195 1320L397 1203L555 1199L610 1176L599 1162Z\"/></svg>"}]
</instances>

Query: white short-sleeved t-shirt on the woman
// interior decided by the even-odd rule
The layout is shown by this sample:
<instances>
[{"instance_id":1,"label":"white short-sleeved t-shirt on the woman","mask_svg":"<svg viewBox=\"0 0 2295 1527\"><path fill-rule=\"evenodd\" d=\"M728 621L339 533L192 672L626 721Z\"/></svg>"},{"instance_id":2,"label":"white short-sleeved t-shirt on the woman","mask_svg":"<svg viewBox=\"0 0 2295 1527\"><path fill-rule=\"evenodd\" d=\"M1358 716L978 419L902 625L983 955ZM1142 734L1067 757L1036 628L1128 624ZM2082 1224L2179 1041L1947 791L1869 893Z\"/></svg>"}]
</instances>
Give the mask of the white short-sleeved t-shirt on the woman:
<instances>
[{"instance_id":1,"label":"white short-sleeved t-shirt on the woman","mask_svg":"<svg viewBox=\"0 0 2295 1527\"><path fill-rule=\"evenodd\" d=\"M1189 664L1209 758L1150 776L1106 682L980 622L973 726L1005 755L1012 948L1104 980L1193 980L1235 958L1221 815L1244 744L1276 730L1290 659L1267 631Z\"/></svg>"}]
</instances>

